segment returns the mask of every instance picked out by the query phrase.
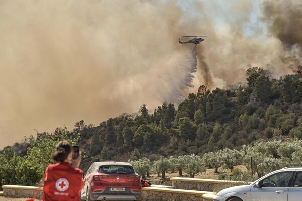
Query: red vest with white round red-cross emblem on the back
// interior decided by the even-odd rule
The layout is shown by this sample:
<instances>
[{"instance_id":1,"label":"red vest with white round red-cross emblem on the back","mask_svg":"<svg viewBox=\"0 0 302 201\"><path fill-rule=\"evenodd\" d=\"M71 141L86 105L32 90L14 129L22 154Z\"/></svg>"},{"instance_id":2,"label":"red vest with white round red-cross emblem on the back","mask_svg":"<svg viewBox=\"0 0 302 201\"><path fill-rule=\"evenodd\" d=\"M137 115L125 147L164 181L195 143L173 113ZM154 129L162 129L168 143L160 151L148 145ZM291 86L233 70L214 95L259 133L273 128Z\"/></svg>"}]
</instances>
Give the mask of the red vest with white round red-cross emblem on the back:
<instances>
[{"instance_id":1,"label":"red vest with white round red-cross emblem on the back","mask_svg":"<svg viewBox=\"0 0 302 201\"><path fill-rule=\"evenodd\" d=\"M48 165L45 171L45 201L79 201L83 171L68 163Z\"/></svg>"}]
</instances>

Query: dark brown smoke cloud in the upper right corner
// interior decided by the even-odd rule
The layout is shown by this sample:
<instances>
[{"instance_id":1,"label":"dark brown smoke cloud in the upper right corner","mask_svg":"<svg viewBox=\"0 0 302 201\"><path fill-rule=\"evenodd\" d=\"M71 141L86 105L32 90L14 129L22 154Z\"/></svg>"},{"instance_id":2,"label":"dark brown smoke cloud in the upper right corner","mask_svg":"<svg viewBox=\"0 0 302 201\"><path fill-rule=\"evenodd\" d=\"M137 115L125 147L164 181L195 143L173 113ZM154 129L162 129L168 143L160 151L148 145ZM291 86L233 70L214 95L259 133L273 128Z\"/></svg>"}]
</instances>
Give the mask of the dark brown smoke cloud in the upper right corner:
<instances>
[{"instance_id":1,"label":"dark brown smoke cloud in the upper right corner","mask_svg":"<svg viewBox=\"0 0 302 201\"><path fill-rule=\"evenodd\" d=\"M293 71L302 63L302 3L300 1L265 1L263 20L269 33L278 38L284 48L282 62Z\"/></svg>"}]
</instances>

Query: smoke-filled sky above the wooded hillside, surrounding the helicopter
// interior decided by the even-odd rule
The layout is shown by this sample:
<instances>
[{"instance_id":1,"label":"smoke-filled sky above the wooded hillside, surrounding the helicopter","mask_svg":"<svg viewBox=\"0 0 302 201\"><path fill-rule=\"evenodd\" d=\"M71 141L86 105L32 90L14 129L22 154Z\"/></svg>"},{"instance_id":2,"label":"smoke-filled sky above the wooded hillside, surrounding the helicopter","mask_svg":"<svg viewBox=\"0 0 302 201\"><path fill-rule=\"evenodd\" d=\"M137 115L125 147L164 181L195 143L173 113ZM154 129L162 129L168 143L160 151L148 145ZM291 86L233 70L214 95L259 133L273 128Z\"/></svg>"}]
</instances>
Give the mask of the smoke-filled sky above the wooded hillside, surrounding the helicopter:
<instances>
[{"instance_id":1,"label":"smoke-filled sky above the wooded hillside, surrounding the helicopter","mask_svg":"<svg viewBox=\"0 0 302 201\"><path fill-rule=\"evenodd\" d=\"M300 67L299 1L1 1L0 148ZM293 17L294 16L294 17ZM182 35L208 35L197 45Z\"/></svg>"}]
</instances>

